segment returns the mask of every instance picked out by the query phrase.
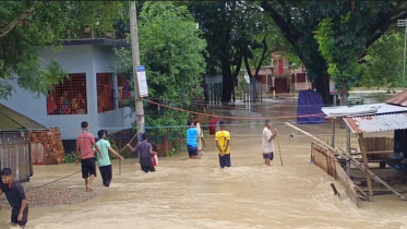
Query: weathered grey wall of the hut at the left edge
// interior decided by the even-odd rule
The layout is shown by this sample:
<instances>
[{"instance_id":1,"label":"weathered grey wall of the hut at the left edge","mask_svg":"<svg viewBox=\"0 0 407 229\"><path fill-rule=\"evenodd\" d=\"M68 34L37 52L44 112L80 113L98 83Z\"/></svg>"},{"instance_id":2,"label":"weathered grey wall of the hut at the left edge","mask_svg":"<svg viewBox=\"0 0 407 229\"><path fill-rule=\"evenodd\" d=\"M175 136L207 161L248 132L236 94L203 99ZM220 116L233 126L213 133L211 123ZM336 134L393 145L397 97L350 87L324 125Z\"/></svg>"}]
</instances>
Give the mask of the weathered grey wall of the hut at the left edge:
<instances>
[{"instance_id":1,"label":"weathered grey wall of the hut at the left edge","mask_svg":"<svg viewBox=\"0 0 407 229\"><path fill-rule=\"evenodd\" d=\"M27 132L0 132L0 168L10 168L16 181L29 180L33 171Z\"/></svg>"}]
</instances>

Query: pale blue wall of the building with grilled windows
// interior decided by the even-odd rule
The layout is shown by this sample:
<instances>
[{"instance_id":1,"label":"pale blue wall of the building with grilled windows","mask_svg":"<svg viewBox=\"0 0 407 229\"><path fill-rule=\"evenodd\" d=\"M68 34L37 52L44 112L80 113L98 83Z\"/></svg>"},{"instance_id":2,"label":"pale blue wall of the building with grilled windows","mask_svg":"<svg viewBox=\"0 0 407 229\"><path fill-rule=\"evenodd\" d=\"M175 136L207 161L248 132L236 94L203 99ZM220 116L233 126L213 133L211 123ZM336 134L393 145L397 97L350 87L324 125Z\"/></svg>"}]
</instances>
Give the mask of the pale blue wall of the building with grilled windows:
<instances>
[{"instance_id":1,"label":"pale blue wall of the building with grilled windows","mask_svg":"<svg viewBox=\"0 0 407 229\"><path fill-rule=\"evenodd\" d=\"M103 128L117 128L118 130L130 128L132 121L128 117L131 113L130 108L97 113L96 73L112 72L109 65L115 62L116 56L111 49L112 47L108 46L67 45L59 52L53 52L50 47L39 51L39 57L44 60L43 65L55 60L69 73L86 74L87 114L47 116L47 97L39 95L35 98L33 94L19 87L16 82L14 82L15 92L8 100L0 99L0 103L47 128L59 126L62 140L76 138L81 133L82 121L89 123L89 132L95 136Z\"/></svg>"}]
</instances>

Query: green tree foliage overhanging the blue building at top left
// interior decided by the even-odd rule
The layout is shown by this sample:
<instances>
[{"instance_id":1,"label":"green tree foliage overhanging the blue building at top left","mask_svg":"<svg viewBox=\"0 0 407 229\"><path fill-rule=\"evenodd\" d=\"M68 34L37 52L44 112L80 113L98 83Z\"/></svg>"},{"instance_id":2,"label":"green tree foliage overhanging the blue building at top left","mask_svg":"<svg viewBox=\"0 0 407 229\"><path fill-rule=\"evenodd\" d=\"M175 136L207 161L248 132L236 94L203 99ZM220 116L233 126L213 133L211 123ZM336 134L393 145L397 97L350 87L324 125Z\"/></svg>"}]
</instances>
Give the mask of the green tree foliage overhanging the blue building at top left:
<instances>
[{"instance_id":1,"label":"green tree foliage overhanging the blue building at top left","mask_svg":"<svg viewBox=\"0 0 407 229\"><path fill-rule=\"evenodd\" d=\"M15 84L31 93L47 94L68 76L55 61L43 67L38 50L59 40L77 38L83 26L96 33L112 28L122 3L111 1L1 1L0 2L0 98L11 95Z\"/></svg>"}]
</instances>

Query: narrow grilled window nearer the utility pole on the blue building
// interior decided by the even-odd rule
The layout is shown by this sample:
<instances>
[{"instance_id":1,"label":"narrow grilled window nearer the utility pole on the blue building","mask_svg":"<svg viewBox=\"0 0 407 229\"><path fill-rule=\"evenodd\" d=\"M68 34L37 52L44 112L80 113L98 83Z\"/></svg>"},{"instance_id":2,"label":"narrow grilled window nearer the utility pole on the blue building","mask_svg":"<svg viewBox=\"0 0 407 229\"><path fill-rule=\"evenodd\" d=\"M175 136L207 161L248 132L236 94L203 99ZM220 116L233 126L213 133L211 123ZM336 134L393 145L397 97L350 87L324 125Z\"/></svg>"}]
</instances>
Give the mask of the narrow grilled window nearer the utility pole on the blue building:
<instances>
[{"instance_id":1,"label":"narrow grilled window nearer the utility pole on the blue building","mask_svg":"<svg viewBox=\"0 0 407 229\"><path fill-rule=\"evenodd\" d=\"M115 110L115 89L112 73L96 73L97 112Z\"/></svg>"}]
</instances>

